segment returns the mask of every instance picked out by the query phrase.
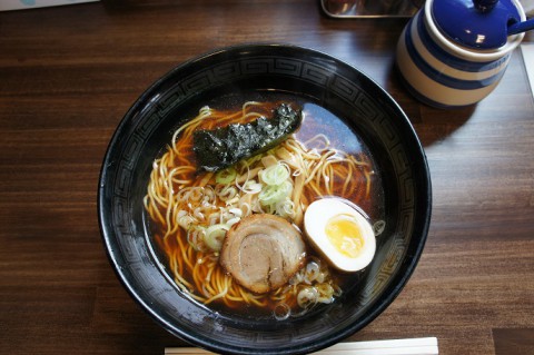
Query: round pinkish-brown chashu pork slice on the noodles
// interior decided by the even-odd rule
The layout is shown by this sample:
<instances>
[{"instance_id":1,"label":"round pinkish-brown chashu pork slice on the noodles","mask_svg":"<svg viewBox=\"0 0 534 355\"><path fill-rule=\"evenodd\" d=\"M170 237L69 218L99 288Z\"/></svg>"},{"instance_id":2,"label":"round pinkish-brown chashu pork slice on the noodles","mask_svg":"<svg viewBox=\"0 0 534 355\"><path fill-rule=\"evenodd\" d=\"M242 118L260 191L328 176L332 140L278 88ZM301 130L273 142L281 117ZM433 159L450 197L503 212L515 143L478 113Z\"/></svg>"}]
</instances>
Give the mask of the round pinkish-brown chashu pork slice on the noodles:
<instances>
[{"instance_id":1,"label":"round pinkish-brown chashu pork slice on the noodles","mask_svg":"<svg viewBox=\"0 0 534 355\"><path fill-rule=\"evenodd\" d=\"M265 294L287 284L303 267L305 256L301 235L290 223L257 214L228 230L219 262L241 286Z\"/></svg>"}]
</instances>

